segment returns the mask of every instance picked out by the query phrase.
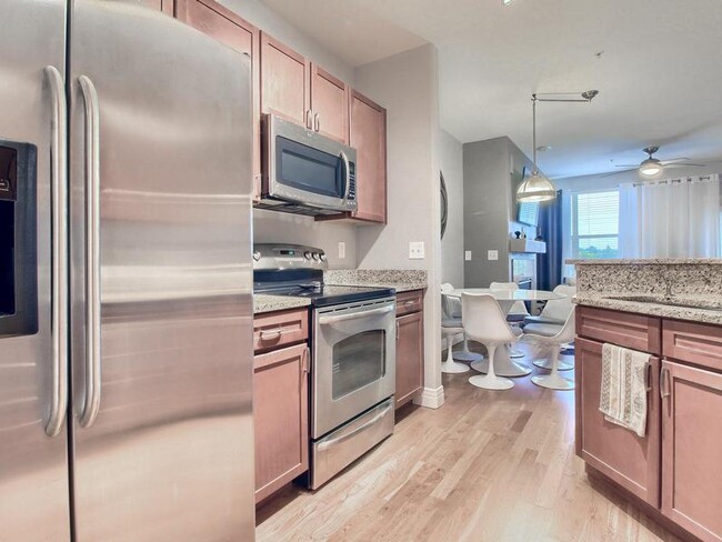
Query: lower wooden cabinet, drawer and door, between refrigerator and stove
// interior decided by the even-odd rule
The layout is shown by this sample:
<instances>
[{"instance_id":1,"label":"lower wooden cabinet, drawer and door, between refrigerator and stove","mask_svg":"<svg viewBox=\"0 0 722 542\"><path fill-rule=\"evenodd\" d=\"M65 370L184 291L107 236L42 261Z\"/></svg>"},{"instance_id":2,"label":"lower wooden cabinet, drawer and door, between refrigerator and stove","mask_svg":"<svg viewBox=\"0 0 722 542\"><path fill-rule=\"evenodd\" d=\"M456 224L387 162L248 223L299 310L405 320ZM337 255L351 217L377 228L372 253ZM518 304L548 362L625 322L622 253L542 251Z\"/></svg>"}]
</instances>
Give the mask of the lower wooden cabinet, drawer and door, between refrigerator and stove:
<instances>
[{"instance_id":1,"label":"lower wooden cabinet, drawer and door, between refrigerator and stove","mask_svg":"<svg viewBox=\"0 0 722 542\"><path fill-rule=\"evenodd\" d=\"M255 502L309 469L308 311L253 319Z\"/></svg>"}]
</instances>

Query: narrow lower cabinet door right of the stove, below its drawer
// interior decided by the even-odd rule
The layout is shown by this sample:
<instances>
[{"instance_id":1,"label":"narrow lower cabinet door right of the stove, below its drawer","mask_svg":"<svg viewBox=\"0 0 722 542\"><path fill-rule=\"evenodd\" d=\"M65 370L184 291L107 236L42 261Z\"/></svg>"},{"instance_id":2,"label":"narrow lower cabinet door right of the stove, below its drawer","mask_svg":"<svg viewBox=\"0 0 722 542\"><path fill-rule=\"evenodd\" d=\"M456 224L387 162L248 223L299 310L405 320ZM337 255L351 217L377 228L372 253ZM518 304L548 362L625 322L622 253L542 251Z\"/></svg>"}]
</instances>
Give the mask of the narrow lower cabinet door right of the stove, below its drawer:
<instances>
[{"instance_id":1,"label":"narrow lower cabinet door right of the stove, below its drawer","mask_svg":"<svg viewBox=\"0 0 722 542\"><path fill-rule=\"evenodd\" d=\"M397 318L397 409L423 387L423 312Z\"/></svg>"}]
</instances>

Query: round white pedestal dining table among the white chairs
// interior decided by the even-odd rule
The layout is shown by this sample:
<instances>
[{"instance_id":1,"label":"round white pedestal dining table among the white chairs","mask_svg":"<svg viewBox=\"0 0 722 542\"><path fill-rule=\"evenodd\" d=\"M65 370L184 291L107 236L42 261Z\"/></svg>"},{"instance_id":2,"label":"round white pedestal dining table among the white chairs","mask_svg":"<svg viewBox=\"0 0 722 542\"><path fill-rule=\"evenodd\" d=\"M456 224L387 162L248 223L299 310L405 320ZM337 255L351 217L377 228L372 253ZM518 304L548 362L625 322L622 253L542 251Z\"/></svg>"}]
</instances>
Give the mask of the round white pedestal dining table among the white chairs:
<instances>
[{"instance_id":1,"label":"round white pedestal dining table among the white chairs","mask_svg":"<svg viewBox=\"0 0 722 542\"><path fill-rule=\"evenodd\" d=\"M461 299L463 293L489 293L493 295L504 315L509 314L517 301L551 301L566 297L546 290L492 290L490 288L459 288L448 292L447 295ZM484 358L481 361L475 361L471 364L471 368L487 373L489 372L489 360ZM494 357L494 372L507 378L525 377L531 373L531 368L512 360L507 349L498 349Z\"/></svg>"}]
</instances>

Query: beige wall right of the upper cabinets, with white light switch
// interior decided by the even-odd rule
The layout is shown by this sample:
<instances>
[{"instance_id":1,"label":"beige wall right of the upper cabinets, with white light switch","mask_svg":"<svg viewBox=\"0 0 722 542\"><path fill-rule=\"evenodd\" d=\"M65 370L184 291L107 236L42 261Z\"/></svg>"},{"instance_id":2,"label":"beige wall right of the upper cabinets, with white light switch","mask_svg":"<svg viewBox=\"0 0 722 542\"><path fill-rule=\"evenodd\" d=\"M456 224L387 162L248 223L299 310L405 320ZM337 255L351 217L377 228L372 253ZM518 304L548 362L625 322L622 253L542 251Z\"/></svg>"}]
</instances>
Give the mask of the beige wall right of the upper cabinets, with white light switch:
<instances>
[{"instance_id":1,"label":"beige wall right of the upper cabinets, with white light switch","mask_svg":"<svg viewBox=\"0 0 722 542\"><path fill-rule=\"evenodd\" d=\"M422 46L362 66L355 88L388 109L387 225L359 228L361 269L423 269L429 289L424 300L425 368L420 403L439 406L441 385L439 328L441 303L439 195L439 81L437 49ZM409 259L409 242L425 243L425 259Z\"/></svg>"}]
</instances>

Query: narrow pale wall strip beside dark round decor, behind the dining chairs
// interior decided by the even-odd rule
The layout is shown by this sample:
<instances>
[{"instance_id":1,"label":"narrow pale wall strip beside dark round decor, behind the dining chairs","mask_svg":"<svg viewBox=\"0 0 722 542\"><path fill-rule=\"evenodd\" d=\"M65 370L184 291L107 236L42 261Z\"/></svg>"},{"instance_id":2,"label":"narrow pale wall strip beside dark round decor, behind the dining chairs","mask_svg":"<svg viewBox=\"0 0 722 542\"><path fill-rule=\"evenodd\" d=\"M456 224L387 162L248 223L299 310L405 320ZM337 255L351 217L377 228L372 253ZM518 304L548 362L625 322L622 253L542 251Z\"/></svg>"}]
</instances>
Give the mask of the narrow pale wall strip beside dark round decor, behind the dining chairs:
<instances>
[{"instance_id":1,"label":"narrow pale wall strip beside dark round decor, behind the dining chairs","mask_svg":"<svg viewBox=\"0 0 722 542\"><path fill-rule=\"evenodd\" d=\"M441 130L440 161L449 213L447 232L441 240L441 282L464 285L464 170L463 145L449 132Z\"/></svg>"}]
</instances>

